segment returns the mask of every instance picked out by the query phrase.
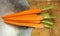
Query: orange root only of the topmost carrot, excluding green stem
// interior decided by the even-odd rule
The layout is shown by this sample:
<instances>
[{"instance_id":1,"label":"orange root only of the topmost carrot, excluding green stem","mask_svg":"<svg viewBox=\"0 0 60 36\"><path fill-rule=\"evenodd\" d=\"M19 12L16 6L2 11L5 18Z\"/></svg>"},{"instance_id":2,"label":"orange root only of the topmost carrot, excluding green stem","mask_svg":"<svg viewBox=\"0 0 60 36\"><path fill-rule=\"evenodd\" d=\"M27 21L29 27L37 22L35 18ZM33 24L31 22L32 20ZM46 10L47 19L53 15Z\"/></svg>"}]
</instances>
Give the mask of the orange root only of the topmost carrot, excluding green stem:
<instances>
[{"instance_id":1,"label":"orange root only of the topmost carrot, excluding green stem","mask_svg":"<svg viewBox=\"0 0 60 36\"><path fill-rule=\"evenodd\" d=\"M42 9L36 8L36 9L21 11L21 12L18 12L18 13L15 13L15 14L10 14L10 15L3 16L3 17L13 17L13 16L18 16L18 15L37 14L37 13L41 13L41 11L42 11Z\"/></svg>"}]
</instances>

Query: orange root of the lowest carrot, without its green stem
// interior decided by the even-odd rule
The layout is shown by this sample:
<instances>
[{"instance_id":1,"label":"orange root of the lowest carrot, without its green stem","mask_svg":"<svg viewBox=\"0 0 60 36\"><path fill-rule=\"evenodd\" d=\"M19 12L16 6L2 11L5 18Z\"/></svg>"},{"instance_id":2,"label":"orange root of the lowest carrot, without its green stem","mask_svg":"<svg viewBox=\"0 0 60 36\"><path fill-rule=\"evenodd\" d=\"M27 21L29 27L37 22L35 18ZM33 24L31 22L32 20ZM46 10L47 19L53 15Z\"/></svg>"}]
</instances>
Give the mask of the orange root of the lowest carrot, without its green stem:
<instances>
[{"instance_id":1,"label":"orange root of the lowest carrot, without its green stem","mask_svg":"<svg viewBox=\"0 0 60 36\"><path fill-rule=\"evenodd\" d=\"M44 24L34 24L34 23L20 23L20 22L15 22L15 21L4 21L6 23L9 23L11 25L16 25L16 26L26 26L26 27L35 27L35 28L44 28Z\"/></svg>"}]
</instances>

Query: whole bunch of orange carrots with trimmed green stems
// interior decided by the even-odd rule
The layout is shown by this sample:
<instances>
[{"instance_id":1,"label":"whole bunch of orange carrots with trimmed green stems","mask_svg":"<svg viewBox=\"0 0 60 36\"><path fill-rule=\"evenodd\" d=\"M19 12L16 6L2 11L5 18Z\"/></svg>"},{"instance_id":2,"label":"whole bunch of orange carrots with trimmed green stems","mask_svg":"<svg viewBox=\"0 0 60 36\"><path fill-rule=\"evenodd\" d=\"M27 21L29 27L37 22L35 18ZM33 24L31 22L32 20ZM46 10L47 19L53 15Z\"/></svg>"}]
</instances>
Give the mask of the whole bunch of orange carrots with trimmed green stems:
<instances>
[{"instance_id":1,"label":"whole bunch of orange carrots with trimmed green stems","mask_svg":"<svg viewBox=\"0 0 60 36\"><path fill-rule=\"evenodd\" d=\"M52 28L53 22L47 19L53 19L54 16L50 16L49 13L42 13L42 11L52 9L52 6L41 9L30 9L21 11L18 13L2 16L5 23L9 23L16 26L26 26L26 27L35 27L35 28Z\"/></svg>"}]
</instances>

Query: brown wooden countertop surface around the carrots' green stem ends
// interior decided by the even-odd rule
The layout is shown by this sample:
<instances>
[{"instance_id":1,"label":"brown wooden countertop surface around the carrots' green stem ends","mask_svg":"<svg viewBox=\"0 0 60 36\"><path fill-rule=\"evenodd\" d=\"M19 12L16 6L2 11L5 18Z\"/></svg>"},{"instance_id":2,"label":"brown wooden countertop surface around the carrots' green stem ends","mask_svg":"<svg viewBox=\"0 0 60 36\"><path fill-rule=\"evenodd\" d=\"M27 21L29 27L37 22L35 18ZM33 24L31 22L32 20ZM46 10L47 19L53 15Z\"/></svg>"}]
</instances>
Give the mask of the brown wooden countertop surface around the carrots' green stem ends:
<instances>
[{"instance_id":1,"label":"brown wooden countertop surface around the carrots' green stem ends","mask_svg":"<svg viewBox=\"0 0 60 36\"><path fill-rule=\"evenodd\" d=\"M48 10L45 12L49 12L56 16L54 28L48 29L37 29L34 28L32 32L32 36L60 36L60 0L28 0L31 8L43 8L48 5L53 5L54 8L52 10Z\"/></svg>"}]
</instances>

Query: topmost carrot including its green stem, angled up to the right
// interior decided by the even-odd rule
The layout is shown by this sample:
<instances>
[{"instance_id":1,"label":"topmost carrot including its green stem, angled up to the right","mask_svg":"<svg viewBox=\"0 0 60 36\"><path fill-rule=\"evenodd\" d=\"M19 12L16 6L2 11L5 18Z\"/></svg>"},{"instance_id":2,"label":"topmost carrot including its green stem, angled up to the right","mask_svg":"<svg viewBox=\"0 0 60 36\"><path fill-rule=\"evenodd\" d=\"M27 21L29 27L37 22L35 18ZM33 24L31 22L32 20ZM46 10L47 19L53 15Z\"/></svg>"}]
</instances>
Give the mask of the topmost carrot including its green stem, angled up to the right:
<instances>
[{"instance_id":1,"label":"topmost carrot including its green stem, angled up to the right","mask_svg":"<svg viewBox=\"0 0 60 36\"><path fill-rule=\"evenodd\" d=\"M35 8L35 9L25 10L25 11L10 14L10 15L7 15L7 16L2 16L2 17L14 17L14 16L18 16L18 15L37 14L37 13L41 13L42 11L48 10L48 9L51 9L51 8L53 8L53 6L48 6L47 8L43 8L43 9Z\"/></svg>"}]
</instances>

